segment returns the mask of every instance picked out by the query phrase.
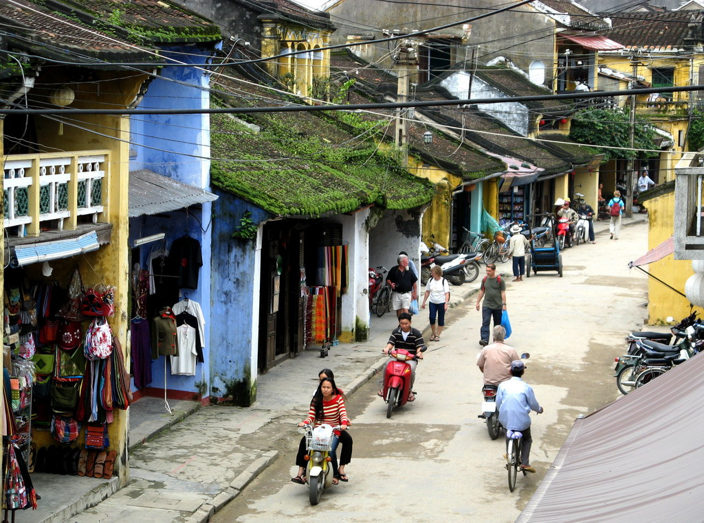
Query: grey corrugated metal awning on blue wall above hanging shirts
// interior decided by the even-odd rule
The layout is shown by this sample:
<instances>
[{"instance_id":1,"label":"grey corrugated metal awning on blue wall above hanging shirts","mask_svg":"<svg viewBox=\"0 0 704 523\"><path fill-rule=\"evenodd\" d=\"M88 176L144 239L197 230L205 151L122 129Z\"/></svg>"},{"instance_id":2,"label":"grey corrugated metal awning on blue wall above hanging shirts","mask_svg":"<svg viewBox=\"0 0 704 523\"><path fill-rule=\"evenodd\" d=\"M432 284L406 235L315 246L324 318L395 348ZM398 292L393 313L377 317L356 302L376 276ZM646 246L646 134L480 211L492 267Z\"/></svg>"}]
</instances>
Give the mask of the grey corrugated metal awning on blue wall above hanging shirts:
<instances>
[{"instance_id":1,"label":"grey corrugated metal awning on blue wall above hanging shirts","mask_svg":"<svg viewBox=\"0 0 704 523\"><path fill-rule=\"evenodd\" d=\"M218 196L149 169L130 172L130 218L212 202Z\"/></svg>"}]
</instances>

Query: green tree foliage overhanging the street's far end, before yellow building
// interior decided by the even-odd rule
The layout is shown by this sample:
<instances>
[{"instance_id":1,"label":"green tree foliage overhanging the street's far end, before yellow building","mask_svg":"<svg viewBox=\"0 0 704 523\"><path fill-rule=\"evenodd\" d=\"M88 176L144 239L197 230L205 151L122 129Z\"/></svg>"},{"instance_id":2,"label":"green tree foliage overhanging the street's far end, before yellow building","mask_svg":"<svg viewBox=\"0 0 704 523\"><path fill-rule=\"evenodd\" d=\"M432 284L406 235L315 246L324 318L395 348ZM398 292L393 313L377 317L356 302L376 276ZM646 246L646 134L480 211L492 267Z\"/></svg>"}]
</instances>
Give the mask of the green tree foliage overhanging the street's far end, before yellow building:
<instances>
[{"instance_id":1,"label":"green tree foliage overhanging the street's far end, before yellow building","mask_svg":"<svg viewBox=\"0 0 704 523\"><path fill-rule=\"evenodd\" d=\"M584 109L572 117L570 138L579 143L598 148L605 160L650 157L658 153L631 150L629 113L620 109ZM657 149L655 130L646 120L636 116L634 148ZM617 149L600 146L617 147Z\"/></svg>"}]
</instances>

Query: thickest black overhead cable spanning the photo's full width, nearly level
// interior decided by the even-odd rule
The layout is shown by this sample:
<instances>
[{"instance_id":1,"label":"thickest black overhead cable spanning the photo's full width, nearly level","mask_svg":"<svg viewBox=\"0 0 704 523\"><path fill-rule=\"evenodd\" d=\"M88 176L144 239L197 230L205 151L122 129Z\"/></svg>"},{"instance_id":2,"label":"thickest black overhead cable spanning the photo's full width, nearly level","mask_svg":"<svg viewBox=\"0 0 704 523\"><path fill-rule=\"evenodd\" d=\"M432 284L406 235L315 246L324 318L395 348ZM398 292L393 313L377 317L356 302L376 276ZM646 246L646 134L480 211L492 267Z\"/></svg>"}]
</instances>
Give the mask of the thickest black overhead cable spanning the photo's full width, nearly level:
<instances>
[{"instance_id":1,"label":"thickest black overhead cable spanning the photo's full width, nearly level","mask_svg":"<svg viewBox=\"0 0 704 523\"><path fill-rule=\"evenodd\" d=\"M643 95L651 93L679 93L704 91L704 85L650 87L648 89L623 89L622 91L579 91L576 93L540 94L513 96L510 98L469 98L466 100L429 100L388 103L351 103L348 105L281 105L275 107L230 107L200 109L7 109L0 108L0 115L203 115L203 114L248 114L253 112L309 112L351 111L398 108L440 107L443 105L484 105L494 103L521 103L551 100L573 100L575 98L607 98L611 96Z\"/></svg>"}]
</instances>

